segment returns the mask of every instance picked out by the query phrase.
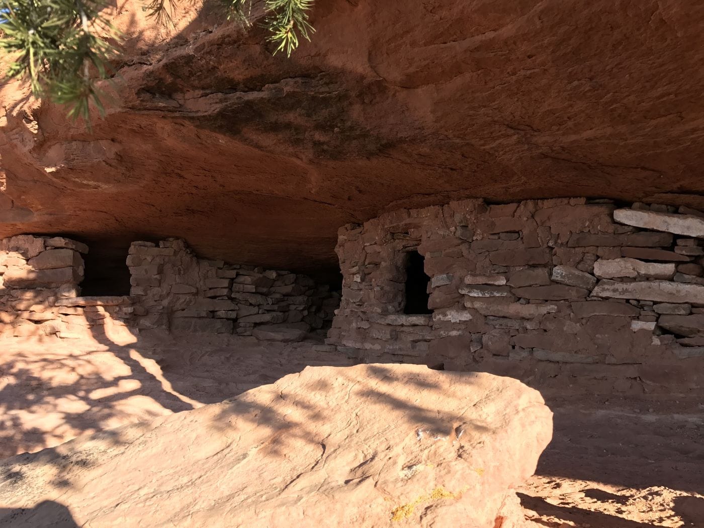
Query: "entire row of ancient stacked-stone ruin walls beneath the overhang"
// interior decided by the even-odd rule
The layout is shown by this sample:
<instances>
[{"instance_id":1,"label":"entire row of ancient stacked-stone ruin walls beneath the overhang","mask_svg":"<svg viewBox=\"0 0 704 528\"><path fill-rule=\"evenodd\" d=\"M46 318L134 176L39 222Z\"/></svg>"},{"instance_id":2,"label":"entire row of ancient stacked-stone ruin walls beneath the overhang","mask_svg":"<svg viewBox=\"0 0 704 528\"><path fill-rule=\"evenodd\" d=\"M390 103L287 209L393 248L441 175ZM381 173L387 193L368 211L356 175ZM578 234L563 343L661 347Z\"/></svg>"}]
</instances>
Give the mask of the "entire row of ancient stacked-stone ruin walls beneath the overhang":
<instances>
[{"instance_id":1,"label":"entire row of ancient stacked-stone ruin walls beneath the overhang","mask_svg":"<svg viewBox=\"0 0 704 528\"><path fill-rule=\"evenodd\" d=\"M0 241L0 335L283 340L329 328L322 349L361 362L484 370L546 389L704 389L704 214L686 207L395 210L339 231L341 297L305 275L197 258L180 239L132 243L130 296L82 297L88 251L65 237Z\"/></svg>"}]
</instances>

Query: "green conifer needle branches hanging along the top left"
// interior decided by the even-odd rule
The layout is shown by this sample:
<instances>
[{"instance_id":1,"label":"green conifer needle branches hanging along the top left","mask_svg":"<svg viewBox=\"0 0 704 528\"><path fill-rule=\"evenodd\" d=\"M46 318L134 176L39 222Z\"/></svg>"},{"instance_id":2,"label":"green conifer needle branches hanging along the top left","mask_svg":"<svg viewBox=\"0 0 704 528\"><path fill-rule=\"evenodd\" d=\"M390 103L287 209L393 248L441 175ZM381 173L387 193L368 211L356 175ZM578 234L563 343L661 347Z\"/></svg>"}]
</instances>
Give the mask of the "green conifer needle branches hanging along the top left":
<instances>
[{"instance_id":1,"label":"green conifer needle branches hanging along the top left","mask_svg":"<svg viewBox=\"0 0 704 528\"><path fill-rule=\"evenodd\" d=\"M120 35L101 14L106 0L0 0L0 47L11 54L8 75L30 80L35 97L67 107L88 120L90 102L103 111L96 80L108 79ZM252 0L220 0L227 18L251 23ZM156 23L172 25L180 0L146 0ZM308 22L313 0L265 0L265 26L274 53L287 56L315 31Z\"/></svg>"}]
</instances>

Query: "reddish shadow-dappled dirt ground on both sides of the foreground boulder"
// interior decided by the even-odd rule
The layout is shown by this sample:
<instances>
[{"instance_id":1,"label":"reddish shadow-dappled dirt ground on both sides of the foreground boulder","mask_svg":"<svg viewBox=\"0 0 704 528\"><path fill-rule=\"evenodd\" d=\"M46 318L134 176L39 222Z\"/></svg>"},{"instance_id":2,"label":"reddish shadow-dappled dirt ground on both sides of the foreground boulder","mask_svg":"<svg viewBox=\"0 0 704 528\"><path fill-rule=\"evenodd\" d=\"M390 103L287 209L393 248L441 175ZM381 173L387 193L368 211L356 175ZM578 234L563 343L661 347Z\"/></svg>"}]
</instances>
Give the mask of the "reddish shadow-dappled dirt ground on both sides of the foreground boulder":
<instances>
[{"instance_id":1,"label":"reddish shadow-dappled dirt ground on both sides of the foreground boulder","mask_svg":"<svg viewBox=\"0 0 704 528\"><path fill-rule=\"evenodd\" d=\"M0 458L215 403L306 365L320 341L0 341ZM704 404L546 394L553 441L519 497L535 527L704 527Z\"/></svg>"}]
</instances>

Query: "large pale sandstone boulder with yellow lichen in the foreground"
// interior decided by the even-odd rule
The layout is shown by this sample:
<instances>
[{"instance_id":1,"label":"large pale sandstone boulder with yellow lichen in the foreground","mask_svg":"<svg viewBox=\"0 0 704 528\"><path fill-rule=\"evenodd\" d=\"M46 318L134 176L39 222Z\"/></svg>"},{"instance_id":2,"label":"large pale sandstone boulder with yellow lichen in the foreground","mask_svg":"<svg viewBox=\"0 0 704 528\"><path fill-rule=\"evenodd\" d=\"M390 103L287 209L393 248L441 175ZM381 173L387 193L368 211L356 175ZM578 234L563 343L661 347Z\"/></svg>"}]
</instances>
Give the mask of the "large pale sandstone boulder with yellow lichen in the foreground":
<instances>
[{"instance_id":1,"label":"large pale sandstone boulder with yellow lichen in the foreground","mask_svg":"<svg viewBox=\"0 0 704 528\"><path fill-rule=\"evenodd\" d=\"M551 433L540 394L515 379L308 367L225 403L5 460L0 524L49 526L56 509L42 505L53 501L101 527L519 526L511 488Z\"/></svg>"}]
</instances>

